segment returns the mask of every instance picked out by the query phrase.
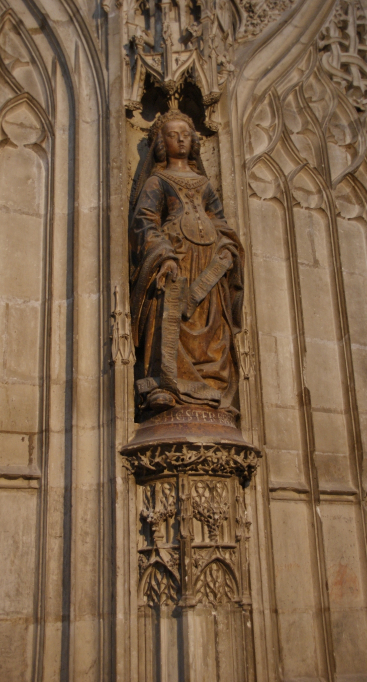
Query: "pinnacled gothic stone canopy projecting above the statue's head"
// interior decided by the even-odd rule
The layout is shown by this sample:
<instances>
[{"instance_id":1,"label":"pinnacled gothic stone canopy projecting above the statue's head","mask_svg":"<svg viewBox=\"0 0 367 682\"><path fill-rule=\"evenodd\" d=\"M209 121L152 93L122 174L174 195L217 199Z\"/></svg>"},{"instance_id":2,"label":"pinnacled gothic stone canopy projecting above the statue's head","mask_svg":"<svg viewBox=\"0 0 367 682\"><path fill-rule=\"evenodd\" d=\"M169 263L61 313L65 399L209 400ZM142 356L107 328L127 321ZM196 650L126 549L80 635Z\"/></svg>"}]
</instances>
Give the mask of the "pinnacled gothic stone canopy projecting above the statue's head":
<instances>
[{"instance_id":1,"label":"pinnacled gothic stone canopy projecting above the statue's head","mask_svg":"<svg viewBox=\"0 0 367 682\"><path fill-rule=\"evenodd\" d=\"M125 12L125 107L141 110L146 76L177 106L187 78L206 109L208 129L218 130L216 106L234 72L233 10L229 2L131 0Z\"/></svg>"}]
</instances>

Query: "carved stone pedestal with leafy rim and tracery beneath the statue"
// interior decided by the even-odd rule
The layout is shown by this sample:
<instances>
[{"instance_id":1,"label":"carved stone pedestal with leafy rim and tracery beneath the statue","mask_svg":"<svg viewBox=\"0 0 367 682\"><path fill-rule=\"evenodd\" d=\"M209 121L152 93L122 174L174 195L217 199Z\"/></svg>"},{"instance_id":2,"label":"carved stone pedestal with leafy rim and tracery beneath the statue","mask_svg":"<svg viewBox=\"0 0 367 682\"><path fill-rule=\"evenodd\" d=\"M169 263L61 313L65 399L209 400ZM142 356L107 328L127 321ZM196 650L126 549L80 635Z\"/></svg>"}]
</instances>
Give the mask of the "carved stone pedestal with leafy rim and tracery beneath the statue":
<instances>
[{"instance_id":1,"label":"carved stone pedestal with leafy rim and tracery beneath the statue","mask_svg":"<svg viewBox=\"0 0 367 682\"><path fill-rule=\"evenodd\" d=\"M122 454L138 484L139 682L249 681L243 486L259 451L231 414L179 406L141 424Z\"/></svg>"}]
</instances>

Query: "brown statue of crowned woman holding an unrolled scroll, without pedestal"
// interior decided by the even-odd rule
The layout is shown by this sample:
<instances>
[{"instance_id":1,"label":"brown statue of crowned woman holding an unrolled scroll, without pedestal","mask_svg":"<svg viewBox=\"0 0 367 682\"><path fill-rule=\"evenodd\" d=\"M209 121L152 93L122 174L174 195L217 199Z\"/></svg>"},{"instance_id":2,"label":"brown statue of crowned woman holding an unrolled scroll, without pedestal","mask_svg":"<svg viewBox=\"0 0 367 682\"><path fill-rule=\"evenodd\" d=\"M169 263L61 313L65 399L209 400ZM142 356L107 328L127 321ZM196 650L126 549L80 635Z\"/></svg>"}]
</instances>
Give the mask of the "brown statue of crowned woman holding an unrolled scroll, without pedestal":
<instances>
[{"instance_id":1,"label":"brown statue of crowned woman holding an unrolled scroll, without pedestal","mask_svg":"<svg viewBox=\"0 0 367 682\"><path fill-rule=\"evenodd\" d=\"M150 129L129 228L135 392L144 418L175 406L236 412L244 250L206 177L193 121Z\"/></svg>"}]
</instances>

